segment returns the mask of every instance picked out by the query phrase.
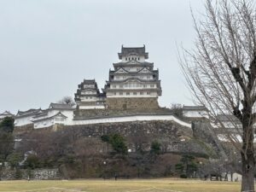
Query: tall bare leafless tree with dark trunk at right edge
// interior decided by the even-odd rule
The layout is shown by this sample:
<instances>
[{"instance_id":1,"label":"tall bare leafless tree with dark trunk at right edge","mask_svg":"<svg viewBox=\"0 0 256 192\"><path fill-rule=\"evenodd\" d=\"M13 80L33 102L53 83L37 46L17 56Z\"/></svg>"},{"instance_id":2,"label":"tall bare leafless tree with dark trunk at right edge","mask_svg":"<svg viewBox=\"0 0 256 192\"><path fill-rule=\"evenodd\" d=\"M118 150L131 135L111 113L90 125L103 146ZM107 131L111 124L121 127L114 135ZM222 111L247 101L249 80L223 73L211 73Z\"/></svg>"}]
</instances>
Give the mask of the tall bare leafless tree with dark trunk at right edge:
<instances>
[{"instance_id":1,"label":"tall bare leafless tree with dark trunk at right edge","mask_svg":"<svg viewBox=\"0 0 256 192\"><path fill-rule=\"evenodd\" d=\"M241 152L241 191L254 191L255 5L252 0L207 0L205 8L204 20L192 14L195 49L179 51L179 61L195 101L207 107L211 117L233 114L241 122L241 129L234 123L236 134L224 133Z\"/></svg>"}]
</instances>

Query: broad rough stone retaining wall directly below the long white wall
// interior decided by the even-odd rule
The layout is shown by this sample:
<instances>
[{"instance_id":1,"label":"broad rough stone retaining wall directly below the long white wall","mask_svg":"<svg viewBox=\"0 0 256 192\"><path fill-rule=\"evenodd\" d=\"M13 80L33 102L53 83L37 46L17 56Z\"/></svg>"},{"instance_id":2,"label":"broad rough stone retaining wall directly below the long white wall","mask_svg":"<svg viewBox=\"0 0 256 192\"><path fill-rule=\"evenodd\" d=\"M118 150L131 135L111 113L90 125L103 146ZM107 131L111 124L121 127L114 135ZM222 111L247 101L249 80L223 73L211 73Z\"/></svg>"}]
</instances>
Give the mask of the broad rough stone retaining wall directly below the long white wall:
<instances>
[{"instance_id":1,"label":"broad rough stone retaining wall directly below the long white wall","mask_svg":"<svg viewBox=\"0 0 256 192\"><path fill-rule=\"evenodd\" d=\"M151 143L157 140L167 153L207 154L207 148L209 148L207 143L198 142L193 137L190 128L168 120L59 126L55 131L68 131L70 135L77 138L99 138L102 135L119 133L125 137L127 145L132 150L137 140L143 139L146 140L145 149L149 150Z\"/></svg>"}]
</instances>

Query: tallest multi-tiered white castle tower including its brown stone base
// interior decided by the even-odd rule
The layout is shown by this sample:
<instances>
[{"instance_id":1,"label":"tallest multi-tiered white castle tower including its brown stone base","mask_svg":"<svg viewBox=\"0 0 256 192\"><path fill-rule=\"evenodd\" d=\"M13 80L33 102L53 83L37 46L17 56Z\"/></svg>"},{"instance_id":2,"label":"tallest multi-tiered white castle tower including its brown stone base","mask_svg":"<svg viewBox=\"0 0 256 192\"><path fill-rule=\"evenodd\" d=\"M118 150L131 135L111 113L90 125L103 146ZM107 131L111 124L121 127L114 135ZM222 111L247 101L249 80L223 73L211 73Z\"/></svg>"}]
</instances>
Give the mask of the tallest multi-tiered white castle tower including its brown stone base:
<instances>
[{"instance_id":1,"label":"tallest multi-tiered white castle tower including its brown stone base","mask_svg":"<svg viewBox=\"0 0 256 192\"><path fill-rule=\"evenodd\" d=\"M143 47L123 47L119 62L113 63L109 79L103 89L106 93L107 108L147 109L159 108L161 96L159 71L154 63L148 62L148 53Z\"/></svg>"}]
</instances>

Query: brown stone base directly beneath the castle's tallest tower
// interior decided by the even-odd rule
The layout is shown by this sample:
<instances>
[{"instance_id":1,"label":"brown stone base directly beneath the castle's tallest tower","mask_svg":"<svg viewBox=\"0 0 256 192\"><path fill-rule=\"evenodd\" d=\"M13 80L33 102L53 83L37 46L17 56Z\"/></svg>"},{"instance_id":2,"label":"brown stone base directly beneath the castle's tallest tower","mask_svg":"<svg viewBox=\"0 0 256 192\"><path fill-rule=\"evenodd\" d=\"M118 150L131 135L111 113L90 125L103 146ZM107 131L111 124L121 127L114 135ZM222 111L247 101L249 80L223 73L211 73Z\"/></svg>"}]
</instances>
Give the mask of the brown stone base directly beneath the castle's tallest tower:
<instances>
[{"instance_id":1,"label":"brown stone base directly beneath the castle's tallest tower","mask_svg":"<svg viewBox=\"0 0 256 192\"><path fill-rule=\"evenodd\" d=\"M109 109L149 109L160 108L157 97L147 98L107 98L106 107Z\"/></svg>"}]
</instances>

